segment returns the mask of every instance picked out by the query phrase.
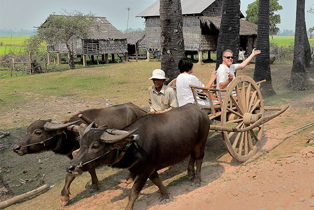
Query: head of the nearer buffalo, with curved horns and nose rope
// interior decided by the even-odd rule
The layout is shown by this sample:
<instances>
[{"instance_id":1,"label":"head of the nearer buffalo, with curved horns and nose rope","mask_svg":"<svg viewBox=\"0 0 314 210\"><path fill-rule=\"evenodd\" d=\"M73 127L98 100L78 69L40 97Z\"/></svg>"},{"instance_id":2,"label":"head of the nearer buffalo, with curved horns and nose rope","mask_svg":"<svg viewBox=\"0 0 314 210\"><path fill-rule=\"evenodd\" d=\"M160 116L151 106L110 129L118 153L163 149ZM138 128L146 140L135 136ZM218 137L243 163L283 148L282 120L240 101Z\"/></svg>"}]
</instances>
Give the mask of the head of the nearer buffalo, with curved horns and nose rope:
<instances>
[{"instance_id":1,"label":"head of the nearer buffalo, with curved horns and nose rope","mask_svg":"<svg viewBox=\"0 0 314 210\"><path fill-rule=\"evenodd\" d=\"M128 132L111 130L107 127L86 128L80 141L80 150L66 165L66 171L75 176L88 171L91 167L98 168L113 164L117 156L117 149L124 148L132 139L138 139L138 135L133 135L137 130Z\"/></svg>"}]
</instances>

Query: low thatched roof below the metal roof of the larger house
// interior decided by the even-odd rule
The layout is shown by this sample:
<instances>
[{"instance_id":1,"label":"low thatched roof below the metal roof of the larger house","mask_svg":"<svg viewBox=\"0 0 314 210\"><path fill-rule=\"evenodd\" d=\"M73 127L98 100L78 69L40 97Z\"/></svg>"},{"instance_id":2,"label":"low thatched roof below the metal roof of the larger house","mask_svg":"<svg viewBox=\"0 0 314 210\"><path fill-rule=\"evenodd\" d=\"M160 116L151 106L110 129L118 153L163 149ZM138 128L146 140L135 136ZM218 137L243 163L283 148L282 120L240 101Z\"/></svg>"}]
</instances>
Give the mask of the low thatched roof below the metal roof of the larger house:
<instances>
[{"instance_id":1,"label":"low thatched roof below the metal roof of the larger house","mask_svg":"<svg viewBox=\"0 0 314 210\"><path fill-rule=\"evenodd\" d=\"M200 16L199 18L202 24L207 24L209 29L215 27L219 30L221 17ZM257 35L257 25L252 22L240 19L240 35Z\"/></svg>"}]
</instances>

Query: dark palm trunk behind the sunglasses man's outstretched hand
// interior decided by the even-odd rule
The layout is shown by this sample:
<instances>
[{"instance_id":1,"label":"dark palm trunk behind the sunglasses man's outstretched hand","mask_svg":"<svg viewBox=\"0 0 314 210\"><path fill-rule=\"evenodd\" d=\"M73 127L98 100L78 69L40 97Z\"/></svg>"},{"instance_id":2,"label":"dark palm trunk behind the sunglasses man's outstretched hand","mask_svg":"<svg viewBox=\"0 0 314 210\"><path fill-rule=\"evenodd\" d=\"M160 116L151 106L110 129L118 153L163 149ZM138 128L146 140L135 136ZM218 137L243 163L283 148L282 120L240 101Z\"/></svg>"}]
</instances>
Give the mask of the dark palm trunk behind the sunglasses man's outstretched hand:
<instances>
[{"instance_id":1,"label":"dark palm trunk behind the sunglasses man's outstretched hand","mask_svg":"<svg viewBox=\"0 0 314 210\"><path fill-rule=\"evenodd\" d=\"M269 0L260 0L258 10L256 48L261 50L261 53L256 55L253 79L256 82L266 79L266 82L261 84L261 92L262 95L265 96L276 94L272 85L269 47Z\"/></svg>"}]
</instances>

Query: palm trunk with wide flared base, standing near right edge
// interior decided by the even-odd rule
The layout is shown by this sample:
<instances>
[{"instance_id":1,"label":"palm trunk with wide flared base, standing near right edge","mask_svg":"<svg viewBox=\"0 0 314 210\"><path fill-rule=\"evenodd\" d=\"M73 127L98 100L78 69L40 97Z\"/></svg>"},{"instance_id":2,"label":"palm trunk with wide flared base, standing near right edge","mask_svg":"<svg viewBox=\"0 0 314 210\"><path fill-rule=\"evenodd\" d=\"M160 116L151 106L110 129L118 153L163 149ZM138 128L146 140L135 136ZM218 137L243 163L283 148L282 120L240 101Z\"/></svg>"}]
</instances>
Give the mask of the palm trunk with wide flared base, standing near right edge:
<instances>
[{"instance_id":1,"label":"palm trunk with wide flared base, standing near right edge","mask_svg":"<svg viewBox=\"0 0 314 210\"><path fill-rule=\"evenodd\" d=\"M294 90L308 89L309 82L305 68L304 27L305 27L305 0L297 0L295 50L291 70L290 87Z\"/></svg>"}]
</instances>

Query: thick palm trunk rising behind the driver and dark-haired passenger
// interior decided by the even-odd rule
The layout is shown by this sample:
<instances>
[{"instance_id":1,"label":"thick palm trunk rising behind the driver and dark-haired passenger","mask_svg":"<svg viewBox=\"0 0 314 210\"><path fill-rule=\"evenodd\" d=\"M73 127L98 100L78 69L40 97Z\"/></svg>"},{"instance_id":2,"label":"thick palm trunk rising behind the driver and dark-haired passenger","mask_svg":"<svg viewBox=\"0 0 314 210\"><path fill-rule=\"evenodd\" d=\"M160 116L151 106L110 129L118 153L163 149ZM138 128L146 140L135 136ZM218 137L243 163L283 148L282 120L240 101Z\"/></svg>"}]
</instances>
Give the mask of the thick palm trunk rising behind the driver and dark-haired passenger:
<instances>
[{"instance_id":1,"label":"thick palm trunk rising behind the driver and dark-haired passenger","mask_svg":"<svg viewBox=\"0 0 314 210\"><path fill-rule=\"evenodd\" d=\"M180 0L160 0L161 69L169 81L180 74L178 63L184 57L183 21Z\"/></svg>"}]
</instances>

